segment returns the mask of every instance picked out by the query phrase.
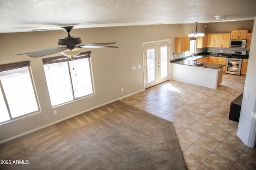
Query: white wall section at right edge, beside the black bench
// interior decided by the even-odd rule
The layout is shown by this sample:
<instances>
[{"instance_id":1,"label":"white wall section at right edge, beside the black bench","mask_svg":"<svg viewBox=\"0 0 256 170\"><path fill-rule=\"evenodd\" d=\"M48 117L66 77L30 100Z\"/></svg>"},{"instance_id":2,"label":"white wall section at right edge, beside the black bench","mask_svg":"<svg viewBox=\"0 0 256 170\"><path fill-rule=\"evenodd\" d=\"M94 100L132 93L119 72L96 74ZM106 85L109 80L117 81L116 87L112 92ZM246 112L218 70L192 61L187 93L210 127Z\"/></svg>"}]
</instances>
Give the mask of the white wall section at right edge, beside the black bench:
<instances>
[{"instance_id":1,"label":"white wall section at right edge, beside the black bench","mask_svg":"<svg viewBox=\"0 0 256 170\"><path fill-rule=\"evenodd\" d=\"M256 18L255 18L256 19ZM254 22L256 28L256 22ZM248 60L248 68L244 84L244 95L240 119L238 124L238 137L248 147L255 147L256 141L256 30L252 32L252 43ZM249 98L245 98L245 93L249 94Z\"/></svg>"}]
</instances>

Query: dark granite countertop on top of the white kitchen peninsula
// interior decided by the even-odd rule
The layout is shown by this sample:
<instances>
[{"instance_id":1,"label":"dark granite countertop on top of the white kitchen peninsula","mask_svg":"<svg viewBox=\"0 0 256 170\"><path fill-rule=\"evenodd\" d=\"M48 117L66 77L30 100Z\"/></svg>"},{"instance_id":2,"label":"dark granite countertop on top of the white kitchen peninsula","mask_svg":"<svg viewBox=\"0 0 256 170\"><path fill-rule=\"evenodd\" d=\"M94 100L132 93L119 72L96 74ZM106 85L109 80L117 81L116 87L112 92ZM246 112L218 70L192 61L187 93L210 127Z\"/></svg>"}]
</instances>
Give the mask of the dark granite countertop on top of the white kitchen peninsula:
<instances>
[{"instance_id":1,"label":"dark granite countertop on top of the white kitchen peninsula","mask_svg":"<svg viewBox=\"0 0 256 170\"><path fill-rule=\"evenodd\" d=\"M196 62L191 60L178 61L178 62L175 62L175 64L197 66L197 67L204 67L204 68L213 68L213 69L218 69L225 66L224 64L203 63L203 62Z\"/></svg>"}]
</instances>

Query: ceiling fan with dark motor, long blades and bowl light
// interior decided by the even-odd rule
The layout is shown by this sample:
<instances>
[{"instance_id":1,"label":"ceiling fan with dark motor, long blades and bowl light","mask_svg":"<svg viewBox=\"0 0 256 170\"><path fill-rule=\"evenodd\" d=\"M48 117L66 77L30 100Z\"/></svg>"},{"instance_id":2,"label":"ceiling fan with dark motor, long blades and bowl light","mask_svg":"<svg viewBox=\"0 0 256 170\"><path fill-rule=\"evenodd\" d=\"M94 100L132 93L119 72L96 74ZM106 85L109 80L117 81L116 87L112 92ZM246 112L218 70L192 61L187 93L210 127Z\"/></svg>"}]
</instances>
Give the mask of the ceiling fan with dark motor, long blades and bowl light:
<instances>
[{"instance_id":1,"label":"ceiling fan with dark motor, long blades and bowl light","mask_svg":"<svg viewBox=\"0 0 256 170\"><path fill-rule=\"evenodd\" d=\"M82 39L80 37L70 36L70 31L74 28L74 26L67 26L61 28L68 33L68 37L65 37L64 39L58 39L58 47L48 47L43 49L21 51L15 53L14 55L29 54L29 57L42 57L45 55L61 52L62 55L73 58L76 55L80 54L81 48L118 48L115 46L107 46L115 43L93 43L78 45L82 43Z\"/></svg>"}]
</instances>

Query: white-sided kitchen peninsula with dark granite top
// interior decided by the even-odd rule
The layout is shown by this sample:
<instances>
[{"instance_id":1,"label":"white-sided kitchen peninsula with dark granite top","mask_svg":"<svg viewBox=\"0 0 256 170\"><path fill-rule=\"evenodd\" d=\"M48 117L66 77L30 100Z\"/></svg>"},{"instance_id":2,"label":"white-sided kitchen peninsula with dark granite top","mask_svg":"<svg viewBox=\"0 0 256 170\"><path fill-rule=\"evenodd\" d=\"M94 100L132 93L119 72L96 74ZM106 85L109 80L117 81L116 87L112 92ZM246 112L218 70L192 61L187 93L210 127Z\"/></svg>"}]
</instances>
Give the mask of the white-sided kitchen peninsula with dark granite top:
<instances>
[{"instance_id":1,"label":"white-sided kitchen peninsula with dark granite top","mask_svg":"<svg viewBox=\"0 0 256 170\"><path fill-rule=\"evenodd\" d=\"M171 80L216 89L222 82L223 66L191 59L171 61Z\"/></svg>"}]
</instances>

